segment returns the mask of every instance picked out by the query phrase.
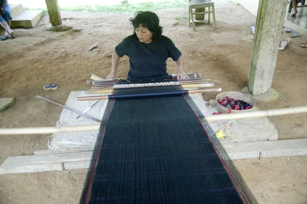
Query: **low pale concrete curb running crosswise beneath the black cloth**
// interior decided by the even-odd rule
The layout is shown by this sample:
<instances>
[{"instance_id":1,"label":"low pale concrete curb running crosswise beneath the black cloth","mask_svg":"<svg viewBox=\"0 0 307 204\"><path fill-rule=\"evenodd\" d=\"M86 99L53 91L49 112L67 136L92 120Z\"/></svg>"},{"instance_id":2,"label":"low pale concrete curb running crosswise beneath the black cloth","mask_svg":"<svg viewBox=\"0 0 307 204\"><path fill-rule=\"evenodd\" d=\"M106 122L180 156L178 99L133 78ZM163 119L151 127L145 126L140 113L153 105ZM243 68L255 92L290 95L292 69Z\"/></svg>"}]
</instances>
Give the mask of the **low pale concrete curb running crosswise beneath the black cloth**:
<instances>
[{"instance_id":1,"label":"low pale concrete curb running crosswise beneath the black cloth","mask_svg":"<svg viewBox=\"0 0 307 204\"><path fill-rule=\"evenodd\" d=\"M307 139L233 143L222 141L231 160L307 155ZM90 149L92 147L89 147ZM77 148L76 151L81 150ZM46 150L50 151L50 150ZM70 151L73 151L71 149ZM261 152L261 153L260 153ZM0 174L89 168L92 151L11 156L0 166Z\"/></svg>"}]
</instances>

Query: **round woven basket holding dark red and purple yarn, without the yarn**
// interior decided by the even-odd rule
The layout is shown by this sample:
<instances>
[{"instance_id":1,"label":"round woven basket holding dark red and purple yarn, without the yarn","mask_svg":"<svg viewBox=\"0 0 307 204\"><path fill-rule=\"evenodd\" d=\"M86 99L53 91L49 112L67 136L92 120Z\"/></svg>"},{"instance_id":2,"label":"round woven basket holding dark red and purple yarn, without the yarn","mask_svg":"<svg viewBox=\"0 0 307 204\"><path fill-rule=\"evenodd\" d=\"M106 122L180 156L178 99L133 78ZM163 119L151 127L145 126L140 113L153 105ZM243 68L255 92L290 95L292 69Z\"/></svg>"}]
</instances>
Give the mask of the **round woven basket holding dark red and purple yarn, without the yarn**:
<instances>
[{"instance_id":1,"label":"round woven basket holding dark red and purple yarn, without the yarn","mask_svg":"<svg viewBox=\"0 0 307 204\"><path fill-rule=\"evenodd\" d=\"M227 114L228 113L228 110L229 108L226 108L224 107L223 105L221 105L220 103L218 103L218 100L224 98L224 97L229 97L229 98L234 98L234 99L238 99L238 100L243 100L249 104L251 104L253 107L251 109L247 109L247 110L231 110L231 113L232 114L235 114L237 112L249 112L249 111L253 111L255 108L255 101L253 98L249 97L248 95L246 94L242 94L240 92L224 92L224 93L221 93L221 94L218 94L216 96L216 103L217 103L217 107L218 107L218 110L222 113L222 114Z\"/></svg>"}]
</instances>

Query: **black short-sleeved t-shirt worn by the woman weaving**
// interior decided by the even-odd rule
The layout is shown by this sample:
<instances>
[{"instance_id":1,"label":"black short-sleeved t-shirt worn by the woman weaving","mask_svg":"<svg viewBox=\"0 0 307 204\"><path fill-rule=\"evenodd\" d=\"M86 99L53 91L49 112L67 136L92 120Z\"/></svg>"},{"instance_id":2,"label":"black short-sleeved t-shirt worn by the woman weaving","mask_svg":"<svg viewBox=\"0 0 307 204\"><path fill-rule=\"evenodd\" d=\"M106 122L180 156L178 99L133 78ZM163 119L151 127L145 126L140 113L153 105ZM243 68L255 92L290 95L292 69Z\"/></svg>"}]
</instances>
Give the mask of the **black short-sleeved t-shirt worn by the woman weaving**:
<instances>
[{"instance_id":1,"label":"black short-sleeved t-shirt worn by the woman weaving","mask_svg":"<svg viewBox=\"0 0 307 204\"><path fill-rule=\"evenodd\" d=\"M177 61L182 55L174 43L166 36L150 43L140 42L138 37L130 35L116 46L119 57L127 55L130 61L130 71L127 78L147 78L168 75L166 60L171 57Z\"/></svg>"}]
</instances>

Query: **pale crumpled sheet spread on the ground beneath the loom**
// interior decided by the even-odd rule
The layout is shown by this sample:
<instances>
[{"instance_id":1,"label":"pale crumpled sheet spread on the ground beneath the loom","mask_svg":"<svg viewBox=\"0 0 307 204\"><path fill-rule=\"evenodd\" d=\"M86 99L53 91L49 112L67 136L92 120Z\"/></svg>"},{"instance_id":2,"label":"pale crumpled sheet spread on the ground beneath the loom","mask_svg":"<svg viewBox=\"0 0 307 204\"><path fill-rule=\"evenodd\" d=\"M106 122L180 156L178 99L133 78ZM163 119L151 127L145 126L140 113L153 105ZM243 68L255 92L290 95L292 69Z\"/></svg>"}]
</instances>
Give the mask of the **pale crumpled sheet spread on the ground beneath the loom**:
<instances>
[{"instance_id":1,"label":"pale crumpled sheet spread on the ground beneath the loom","mask_svg":"<svg viewBox=\"0 0 307 204\"><path fill-rule=\"evenodd\" d=\"M103 94L100 94L103 95ZM83 111L93 105L96 101L77 101L77 97L85 96L85 92L71 92L66 106ZM94 95L93 95L94 96ZM192 94L192 99L198 105L204 116L218 112L215 100L204 101L201 94ZM107 100L100 100L95 106L86 112L87 115L102 119ZM258 110L258 108L255 108ZM98 122L81 116L70 110L63 109L56 126L92 125ZM278 139L278 132L274 125L266 117L238 119L210 122L214 132L223 130L226 141L231 142L256 142L273 141ZM49 140L52 149L67 149L76 147L93 147L96 142L98 131L55 133Z\"/></svg>"}]
</instances>

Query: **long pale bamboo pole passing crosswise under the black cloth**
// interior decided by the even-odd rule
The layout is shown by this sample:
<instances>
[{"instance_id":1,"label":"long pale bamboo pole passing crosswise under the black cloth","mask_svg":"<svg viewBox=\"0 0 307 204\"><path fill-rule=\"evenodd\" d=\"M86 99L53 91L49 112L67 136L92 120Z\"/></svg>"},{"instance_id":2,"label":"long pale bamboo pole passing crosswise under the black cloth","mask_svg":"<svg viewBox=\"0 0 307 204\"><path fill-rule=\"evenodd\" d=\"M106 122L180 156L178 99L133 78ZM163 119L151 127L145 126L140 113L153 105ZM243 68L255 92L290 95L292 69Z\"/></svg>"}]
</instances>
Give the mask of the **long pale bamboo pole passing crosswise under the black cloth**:
<instances>
[{"instance_id":1,"label":"long pale bamboo pole passing crosswise under the black cloth","mask_svg":"<svg viewBox=\"0 0 307 204\"><path fill-rule=\"evenodd\" d=\"M299 114L307 112L307 106L299 106L293 108L280 108L272 110L260 110L252 112L243 112L238 114L222 114L205 116L208 122L223 121L223 120L235 120L244 118L260 118L268 116L279 116L288 114ZM0 129L0 135L9 134L46 134L46 133L58 133L58 132L83 132L83 131L97 131L100 128L100 124L97 125L77 125L77 126L63 126L63 127L24 127L24 128L4 128Z\"/></svg>"}]
</instances>

